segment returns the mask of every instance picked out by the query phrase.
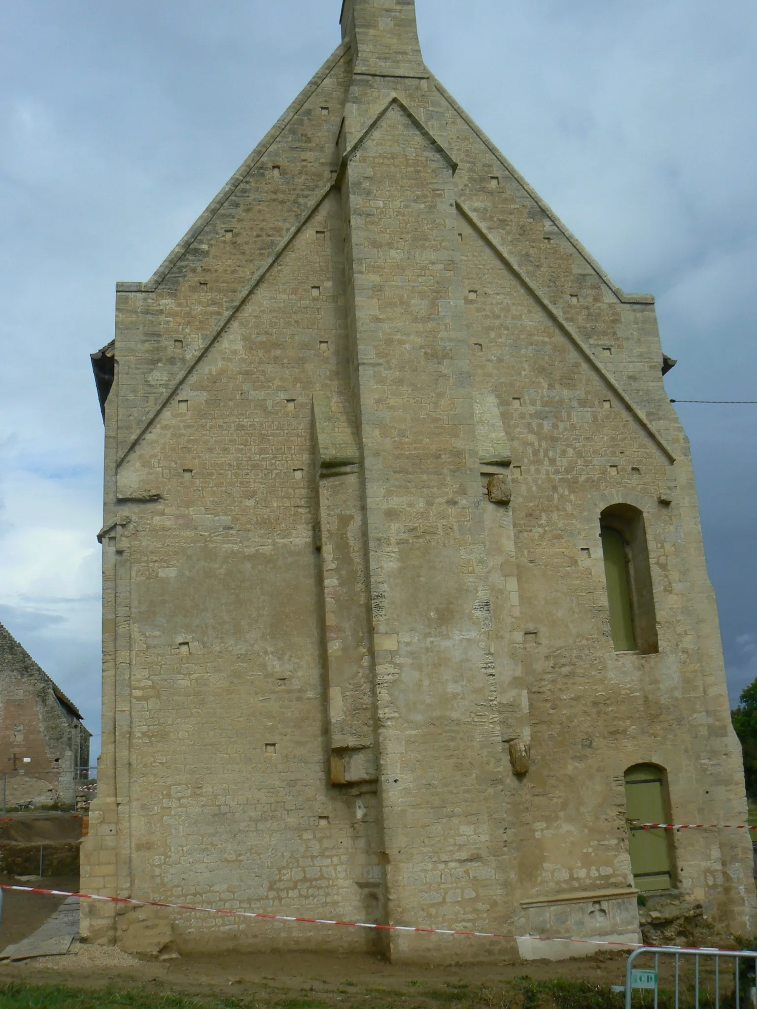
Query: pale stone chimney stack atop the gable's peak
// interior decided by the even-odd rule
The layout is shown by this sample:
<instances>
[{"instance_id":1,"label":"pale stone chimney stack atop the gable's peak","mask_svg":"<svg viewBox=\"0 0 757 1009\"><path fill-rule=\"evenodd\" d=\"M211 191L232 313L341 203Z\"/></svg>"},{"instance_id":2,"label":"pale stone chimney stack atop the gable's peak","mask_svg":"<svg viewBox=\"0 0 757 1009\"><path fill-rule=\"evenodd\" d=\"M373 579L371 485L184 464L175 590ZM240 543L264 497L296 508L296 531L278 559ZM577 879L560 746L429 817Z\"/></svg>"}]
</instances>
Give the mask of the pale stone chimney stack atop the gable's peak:
<instances>
[{"instance_id":1,"label":"pale stone chimney stack atop the gable's peak","mask_svg":"<svg viewBox=\"0 0 757 1009\"><path fill-rule=\"evenodd\" d=\"M342 38L352 42L355 74L425 78L415 0L344 0Z\"/></svg>"}]
</instances>

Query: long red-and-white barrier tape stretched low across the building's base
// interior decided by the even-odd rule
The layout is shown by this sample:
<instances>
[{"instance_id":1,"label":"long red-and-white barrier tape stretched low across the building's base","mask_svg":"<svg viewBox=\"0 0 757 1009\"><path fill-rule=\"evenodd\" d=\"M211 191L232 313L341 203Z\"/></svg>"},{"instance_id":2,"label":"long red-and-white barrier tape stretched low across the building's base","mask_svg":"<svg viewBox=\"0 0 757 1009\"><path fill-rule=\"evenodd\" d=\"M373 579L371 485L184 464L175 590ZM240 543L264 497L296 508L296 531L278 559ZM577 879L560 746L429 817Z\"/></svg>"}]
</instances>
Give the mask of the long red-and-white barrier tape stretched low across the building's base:
<instances>
[{"instance_id":1,"label":"long red-and-white barrier tape stretched low across the building's base","mask_svg":"<svg viewBox=\"0 0 757 1009\"><path fill-rule=\"evenodd\" d=\"M132 900L129 897L102 897L91 893L69 893L66 890L42 890L39 887L0 885L0 890L18 890L22 893L41 893L49 897L78 897L81 900L99 900L110 904L130 904L134 907L161 907L174 911L196 911L203 914L223 914L233 918L258 918L262 921L289 921L304 925L328 925L343 928L371 928L385 932L419 932L422 935L457 935L465 938L513 939L515 941L530 939L532 942L575 942L582 945L614 946L618 949L638 949L643 942L612 942L607 939L565 939L551 938L541 935L503 935L498 932L463 932L451 928L418 928L413 925L377 925L365 921L332 921L328 918L297 918L285 914L259 914L253 911L222 911L216 907L194 907L191 904L166 904L152 900ZM664 949L688 949L700 952L734 952L734 949L716 949L708 946L657 946ZM741 950L746 951L746 950ZM751 950L750 950L751 951ZM757 951L755 951L757 959Z\"/></svg>"}]
</instances>

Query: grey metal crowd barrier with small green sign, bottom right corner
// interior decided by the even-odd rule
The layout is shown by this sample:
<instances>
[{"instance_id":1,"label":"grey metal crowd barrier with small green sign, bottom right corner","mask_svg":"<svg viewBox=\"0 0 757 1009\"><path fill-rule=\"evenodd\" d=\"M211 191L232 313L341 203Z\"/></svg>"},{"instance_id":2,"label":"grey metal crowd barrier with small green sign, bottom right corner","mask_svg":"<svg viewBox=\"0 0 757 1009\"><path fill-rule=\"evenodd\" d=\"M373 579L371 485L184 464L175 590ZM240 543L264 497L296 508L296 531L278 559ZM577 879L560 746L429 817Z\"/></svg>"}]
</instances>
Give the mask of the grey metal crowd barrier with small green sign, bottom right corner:
<instances>
[{"instance_id":1,"label":"grey metal crowd barrier with small green sign, bottom right corner","mask_svg":"<svg viewBox=\"0 0 757 1009\"><path fill-rule=\"evenodd\" d=\"M643 970L634 966L639 957L645 956L654 957L654 970ZM726 1009L727 1006L733 1006L734 1009L754 1009L757 1006L755 950L642 946L631 954L626 964L626 1009L632 1009L635 991L654 991L654 1009L658 1009L661 958L663 965L667 963L673 969L674 1009L682 1009L683 1006L692 1006L693 1009L704 1009L705 1006L714 1006L714 1009ZM685 968L692 961L693 978L689 980ZM704 964L700 963L702 961ZM731 970L721 970L722 961L733 961ZM744 961L748 963L743 964ZM730 989L732 972L733 991L726 991L724 995L721 989L724 984ZM710 984L714 986L712 995L709 990Z\"/></svg>"}]
</instances>

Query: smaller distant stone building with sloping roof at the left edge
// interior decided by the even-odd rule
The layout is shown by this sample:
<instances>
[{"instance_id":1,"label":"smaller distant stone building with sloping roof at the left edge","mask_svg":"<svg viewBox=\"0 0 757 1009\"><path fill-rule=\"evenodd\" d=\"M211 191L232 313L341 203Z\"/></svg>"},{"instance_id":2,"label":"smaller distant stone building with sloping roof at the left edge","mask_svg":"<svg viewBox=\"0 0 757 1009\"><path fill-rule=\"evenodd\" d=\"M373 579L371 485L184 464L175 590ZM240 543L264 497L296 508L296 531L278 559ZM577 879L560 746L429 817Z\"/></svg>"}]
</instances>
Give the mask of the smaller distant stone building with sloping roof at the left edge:
<instances>
[{"instance_id":1,"label":"smaller distant stone building with sloping roof at the left edge","mask_svg":"<svg viewBox=\"0 0 757 1009\"><path fill-rule=\"evenodd\" d=\"M90 736L73 701L0 624L0 787L7 808L74 809Z\"/></svg>"}]
</instances>

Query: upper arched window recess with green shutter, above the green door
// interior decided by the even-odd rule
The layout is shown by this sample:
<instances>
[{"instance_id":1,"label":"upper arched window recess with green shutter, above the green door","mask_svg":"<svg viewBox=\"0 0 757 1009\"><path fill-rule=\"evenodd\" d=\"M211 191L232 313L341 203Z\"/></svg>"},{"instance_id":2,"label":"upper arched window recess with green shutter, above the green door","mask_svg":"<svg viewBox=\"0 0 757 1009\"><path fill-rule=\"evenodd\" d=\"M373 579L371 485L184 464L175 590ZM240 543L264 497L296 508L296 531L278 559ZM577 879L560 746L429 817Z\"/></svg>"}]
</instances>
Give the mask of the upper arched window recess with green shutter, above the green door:
<instances>
[{"instance_id":1,"label":"upper arched window recess with green shutter, above the green door","mask_svg":"<svg viewBox=\"0 0 757 1009\"><path fill-rule=\"evenodd\" d=\"M600 528L615 650L657 652L644 515L632 504L612 504L602 513Z\"/></svg>"}]
</instances>

